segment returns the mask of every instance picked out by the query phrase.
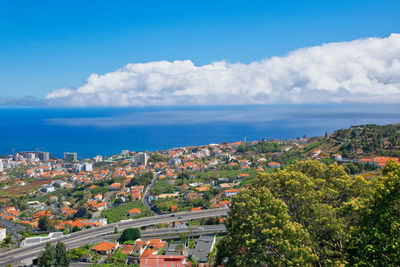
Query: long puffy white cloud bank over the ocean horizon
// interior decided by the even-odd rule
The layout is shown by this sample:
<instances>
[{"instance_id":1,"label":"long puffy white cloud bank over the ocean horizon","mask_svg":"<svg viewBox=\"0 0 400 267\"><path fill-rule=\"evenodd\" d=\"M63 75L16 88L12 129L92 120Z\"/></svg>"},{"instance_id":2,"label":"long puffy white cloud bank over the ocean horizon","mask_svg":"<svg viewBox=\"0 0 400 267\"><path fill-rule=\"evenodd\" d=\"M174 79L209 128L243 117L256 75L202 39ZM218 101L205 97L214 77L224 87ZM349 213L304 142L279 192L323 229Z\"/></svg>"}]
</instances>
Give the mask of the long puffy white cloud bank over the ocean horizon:
<instances>
[{"instance_id":1,"label":"long puffy white cloud bank over the ocean horizon","mask_svg":"<svg viewBox=\"0 0 400 267\"><path fill-rule=\"evenodd\" d=\"M303 48L250 64L190 60L127 64L92 74L49 105L147 106L400 102L400 34Z\"/></svg>"}]
</instances>

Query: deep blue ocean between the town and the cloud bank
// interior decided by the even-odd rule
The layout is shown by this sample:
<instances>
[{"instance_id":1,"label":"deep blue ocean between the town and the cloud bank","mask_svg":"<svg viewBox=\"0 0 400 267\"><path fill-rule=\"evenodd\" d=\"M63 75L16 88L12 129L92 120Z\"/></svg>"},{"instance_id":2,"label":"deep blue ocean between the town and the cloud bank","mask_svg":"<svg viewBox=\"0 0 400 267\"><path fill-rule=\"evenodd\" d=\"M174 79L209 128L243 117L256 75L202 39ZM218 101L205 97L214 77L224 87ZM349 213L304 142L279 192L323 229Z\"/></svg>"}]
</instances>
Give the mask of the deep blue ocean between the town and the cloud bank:
<instances>
[{"instance_id":1,"label":"deep blue ocean between the town and the cloud bank","mask_svg":"<svg viewBox=\"0 0 400 267\"><path fill-rule=\"evenodd\" d=\"M400 122L398 105L318 104L134 108L0 108L0 154L79 158L306 135Z\"/></svg>"}]
</instances>

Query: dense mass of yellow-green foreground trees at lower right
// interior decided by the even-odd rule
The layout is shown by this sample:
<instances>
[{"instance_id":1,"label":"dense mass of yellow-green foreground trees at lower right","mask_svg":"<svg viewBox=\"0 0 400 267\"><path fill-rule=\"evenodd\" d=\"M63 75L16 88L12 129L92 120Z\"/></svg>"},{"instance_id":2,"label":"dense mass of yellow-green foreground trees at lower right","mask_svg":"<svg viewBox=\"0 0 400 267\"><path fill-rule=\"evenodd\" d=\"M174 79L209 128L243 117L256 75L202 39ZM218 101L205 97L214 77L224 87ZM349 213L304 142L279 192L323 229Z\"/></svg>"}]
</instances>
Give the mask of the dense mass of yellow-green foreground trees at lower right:
<instances>
[{"instance_id":1,"label":"dense mass of yellow-green foreground trees at lower right","mask_svg":"<svg viewBox=\"0 0 400 267\"><path fill-rule=\"evenodd\" d=\"M398 266L400 165L374 182L336 163L261 173L232 201L216 264Z\"/></svg>"}]
</instances>

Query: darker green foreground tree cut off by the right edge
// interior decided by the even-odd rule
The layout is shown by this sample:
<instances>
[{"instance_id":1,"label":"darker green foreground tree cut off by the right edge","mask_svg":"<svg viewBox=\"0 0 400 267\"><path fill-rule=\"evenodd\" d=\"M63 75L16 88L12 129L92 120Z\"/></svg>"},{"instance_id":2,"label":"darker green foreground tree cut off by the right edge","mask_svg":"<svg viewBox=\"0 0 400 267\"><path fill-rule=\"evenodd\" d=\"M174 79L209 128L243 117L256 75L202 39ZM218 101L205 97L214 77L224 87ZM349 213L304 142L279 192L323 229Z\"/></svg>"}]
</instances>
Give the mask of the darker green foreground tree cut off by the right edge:
<instances>
[{"instance_id":1,"label":"darker green foreground tree cut off by the right edge","mask_svg":"<svg viewBox=\"0 0 400 267\"><path fill-rule=\"evenodd\" d=\"M400 265L400 164L389 162L345 243L349 265Z\"/></svg>"}]
</instances>

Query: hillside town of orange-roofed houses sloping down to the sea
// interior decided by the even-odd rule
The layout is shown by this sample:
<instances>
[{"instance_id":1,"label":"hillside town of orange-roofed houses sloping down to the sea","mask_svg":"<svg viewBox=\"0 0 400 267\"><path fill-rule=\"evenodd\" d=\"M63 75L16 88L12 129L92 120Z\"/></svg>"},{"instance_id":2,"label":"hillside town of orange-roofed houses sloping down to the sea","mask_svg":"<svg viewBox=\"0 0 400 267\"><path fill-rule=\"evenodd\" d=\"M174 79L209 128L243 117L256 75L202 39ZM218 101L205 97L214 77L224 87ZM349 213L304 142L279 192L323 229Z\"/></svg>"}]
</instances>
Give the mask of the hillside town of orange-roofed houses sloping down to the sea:
<instances>
[{"instance_id":1,"label":"hillside town of orange-roofed houses sloping down to the sea","mask_svg":"<svg viewBox=\"0 0 400 267\"><path fill-rule=\"evenodd\" d=\"M362 153L349 157L348 150L343 149L346 155L324 151L321 147L327 138L245 138L235 143L165 151L123 150L119 155L89 159L70 152L62 159L42 151L3 155L1 251L44 246L80 231L113 224L112 233L69 245L73 264L159 266L168 262L173 266L207 266L215 243L225 233L226 215L185 220L182 214L228 208L257 173L275 172L295 160L309 158L327 164L337 162L349 174L371 178L379 176L388 161L399 162L397 157L366 157ZM148 224L139 230L121 225L166 215L169 222ZM135 238L124 238L134 230L138 231ZM18 264L29 265L32 260L35 257Z\"/></svg>"}]
</instances>

